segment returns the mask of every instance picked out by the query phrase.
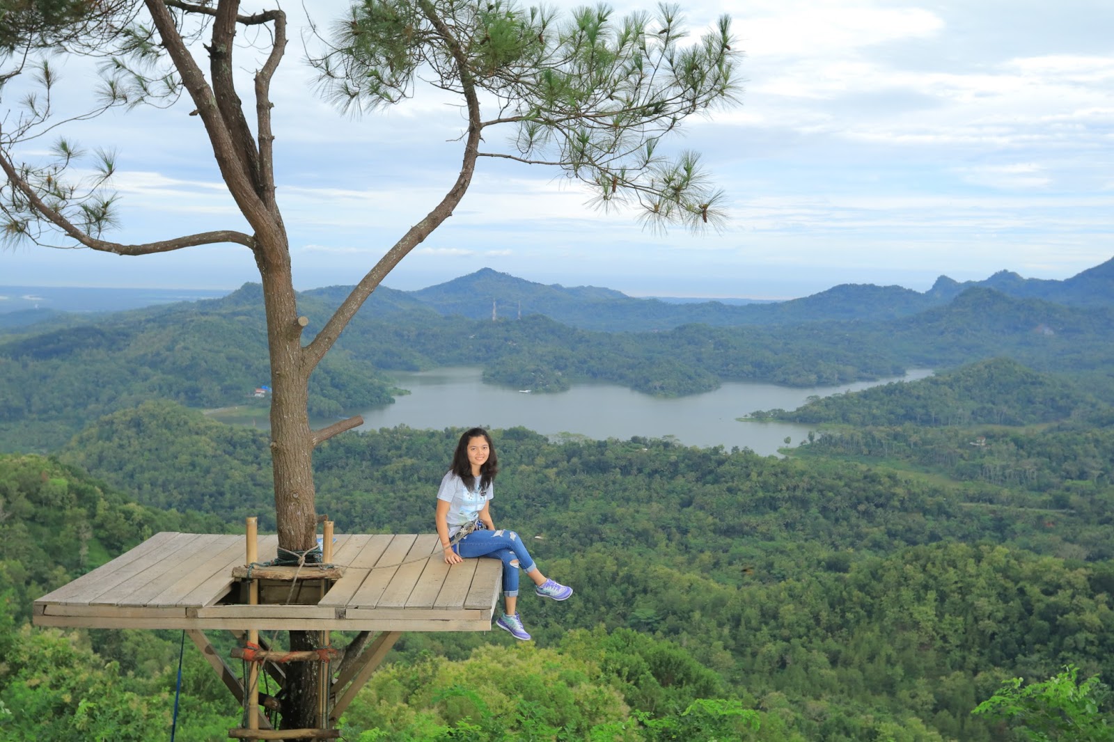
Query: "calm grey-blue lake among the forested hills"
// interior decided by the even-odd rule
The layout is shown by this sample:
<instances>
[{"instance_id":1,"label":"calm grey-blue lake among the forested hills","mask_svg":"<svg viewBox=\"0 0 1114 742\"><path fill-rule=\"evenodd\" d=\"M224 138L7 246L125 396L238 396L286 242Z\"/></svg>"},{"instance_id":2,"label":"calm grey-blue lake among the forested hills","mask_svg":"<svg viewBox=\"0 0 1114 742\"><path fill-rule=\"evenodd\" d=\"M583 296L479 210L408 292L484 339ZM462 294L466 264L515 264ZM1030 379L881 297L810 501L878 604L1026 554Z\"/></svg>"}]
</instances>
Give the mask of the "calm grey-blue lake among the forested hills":
<instances>
[{"instance_id":1,"label":"calm grey-blue lake among the forested hills","mask_svg":"<svg viewBox=\"0 0 1114 742\"><path fill-rule=\"evenodd\" d=\"M765 456L776 455L786 437L792 446L799 445L815 426L740 422L735 418L754 410L793 410L813 394L828 397L891 381L924 379L931 373L919 369L903 377L807 389L727 382L703 394L661 399L607 383L575 384L554 394L524 393L485 384L481 369L473 367L393 371L391 378L411 393L398 397L394 404L363 412L360 429L400 424L433 430L522 426L550 438L565 433L600 440L672 436L686 446L723 446L727 450L737 446Z\"/></svg>"}]
</instances>

